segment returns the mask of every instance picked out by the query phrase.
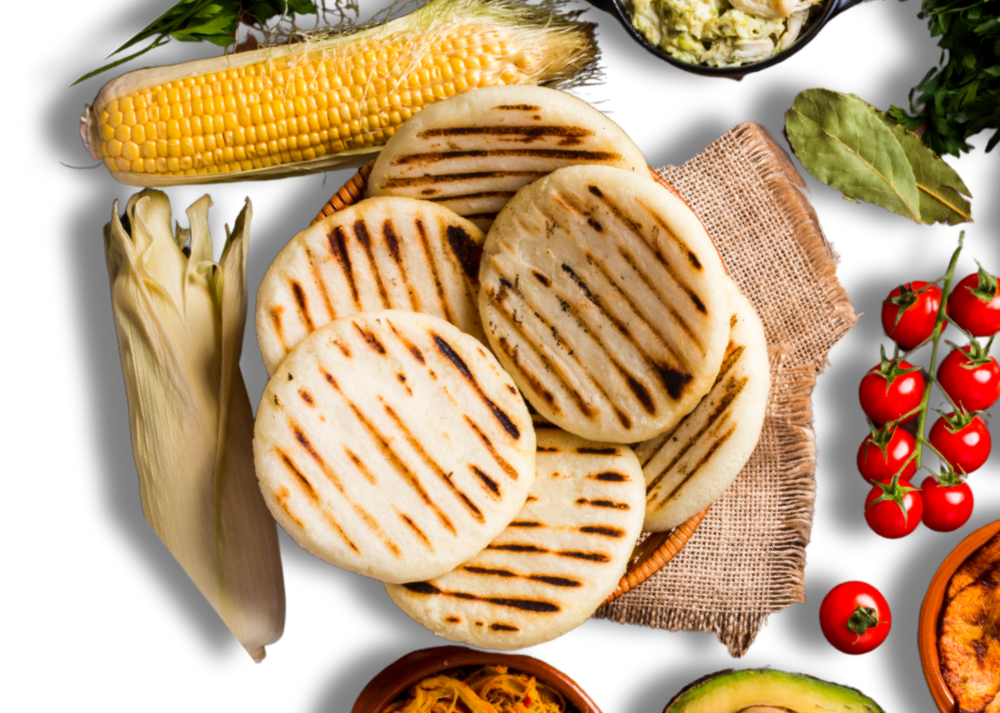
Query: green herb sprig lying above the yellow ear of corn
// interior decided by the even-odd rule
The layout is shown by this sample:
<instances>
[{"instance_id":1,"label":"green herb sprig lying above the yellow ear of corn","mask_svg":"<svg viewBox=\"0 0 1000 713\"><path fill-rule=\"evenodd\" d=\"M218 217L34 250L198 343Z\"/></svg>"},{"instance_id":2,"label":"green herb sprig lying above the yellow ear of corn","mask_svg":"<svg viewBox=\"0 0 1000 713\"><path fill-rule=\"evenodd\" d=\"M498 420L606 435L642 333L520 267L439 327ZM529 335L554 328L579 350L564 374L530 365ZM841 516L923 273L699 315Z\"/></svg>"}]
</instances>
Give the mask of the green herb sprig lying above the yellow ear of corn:
<instances>
[{"instance_id":1,"label":"green herb sprig lying above the yellow ear of corn","mask_svg":"<svg viewBox=\"0 0 1000 713\"><path fill-rule=\"evenodd\" d=\"M325 15L325 12L324 3L322 14ZM217 47L229 47L236 43L240 25L257 30L267 28L273 32L269 25L277 20L279 25L290 23L294 31L296 18L316 16L319 21L318 14L320 13L317 13L313 0L180 0L105 57L116 59L87 72L70 86L85 82L171 42L208 42ZM141 49L122 56L137 46L141 46Z\"/></svg>"}]
</instances>

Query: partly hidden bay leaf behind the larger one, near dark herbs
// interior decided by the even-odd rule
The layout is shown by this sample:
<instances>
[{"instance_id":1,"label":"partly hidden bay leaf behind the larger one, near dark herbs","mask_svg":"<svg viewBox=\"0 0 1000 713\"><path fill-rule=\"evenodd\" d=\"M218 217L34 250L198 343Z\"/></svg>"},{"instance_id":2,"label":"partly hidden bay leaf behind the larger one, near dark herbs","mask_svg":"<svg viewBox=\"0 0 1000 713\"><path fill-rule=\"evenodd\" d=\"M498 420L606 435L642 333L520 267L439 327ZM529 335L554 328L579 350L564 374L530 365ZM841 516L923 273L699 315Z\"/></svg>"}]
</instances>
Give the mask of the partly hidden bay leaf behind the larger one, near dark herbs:
<instances>
[{"instance_id":1,"label":"partly hidden bay leaf behind the larger one, near dark herbs","mask_svg":"<svg viewBox=\"0 0 1000 713\"><path fill-rule=\"evenodd\" d=\"M883 111L872 107L903 148L920 191L920 222L924 225L975 223L972 191L958 171L927 147L920 137Z\"/></svg>"}]
</instances>

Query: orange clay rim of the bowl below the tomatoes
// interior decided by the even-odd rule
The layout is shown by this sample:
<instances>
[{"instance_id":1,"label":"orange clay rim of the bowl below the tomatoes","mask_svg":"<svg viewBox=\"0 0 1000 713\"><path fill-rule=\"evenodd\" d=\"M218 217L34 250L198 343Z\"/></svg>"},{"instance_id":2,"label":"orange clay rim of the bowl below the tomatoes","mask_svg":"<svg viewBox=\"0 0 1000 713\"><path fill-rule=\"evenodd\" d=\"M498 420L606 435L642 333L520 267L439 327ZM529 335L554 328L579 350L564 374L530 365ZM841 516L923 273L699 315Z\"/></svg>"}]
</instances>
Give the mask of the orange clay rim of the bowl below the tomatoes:
<instances>
[{"instance_id":1,"label":"orange clay rim of the bowl below the tomatoes","mask_svg":"<svg viewBox=\"0 0 1000 713\"><path fill-rule=\"evenodd\" d=\"M944 677L941 675L941 662L938 659L937 638L938 622L941 620L941 608L944 606L944 595L948 582L963 562L973 552L982 547L993 535L1000 532L1000 520L994 520L974 531L958 547L951 551L931 580L924 595L924 603L920 607L920 621L917 625L917 641L920 646L920 663L924 667L924 677L931 689L931 697L941 713L956 713L955 698L951 695Z\"/></svg>"}]
</instances>

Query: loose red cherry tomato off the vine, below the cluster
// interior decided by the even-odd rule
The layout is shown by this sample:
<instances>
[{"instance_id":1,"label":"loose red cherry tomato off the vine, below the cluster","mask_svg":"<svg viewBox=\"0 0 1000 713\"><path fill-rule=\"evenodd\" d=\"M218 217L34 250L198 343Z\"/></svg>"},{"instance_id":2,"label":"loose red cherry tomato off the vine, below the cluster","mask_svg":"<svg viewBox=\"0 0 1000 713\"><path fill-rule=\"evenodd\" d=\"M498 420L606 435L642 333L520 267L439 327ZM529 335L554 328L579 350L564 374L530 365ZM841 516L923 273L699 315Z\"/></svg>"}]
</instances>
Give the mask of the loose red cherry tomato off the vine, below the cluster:
<instances>
[{"instance_id":1,"label":"loose red cherry tomato off the vine, below the cluster","mask_svg":"<svg viewBox=\"0 0 1000 713\"><path fill-rule=\"evenodd\" d=\"M823 597L819 627L840 653L864 656L881 646L889 635L892 612L874 585L852 579L836 585Z\"/></svg>"}]
</instances>

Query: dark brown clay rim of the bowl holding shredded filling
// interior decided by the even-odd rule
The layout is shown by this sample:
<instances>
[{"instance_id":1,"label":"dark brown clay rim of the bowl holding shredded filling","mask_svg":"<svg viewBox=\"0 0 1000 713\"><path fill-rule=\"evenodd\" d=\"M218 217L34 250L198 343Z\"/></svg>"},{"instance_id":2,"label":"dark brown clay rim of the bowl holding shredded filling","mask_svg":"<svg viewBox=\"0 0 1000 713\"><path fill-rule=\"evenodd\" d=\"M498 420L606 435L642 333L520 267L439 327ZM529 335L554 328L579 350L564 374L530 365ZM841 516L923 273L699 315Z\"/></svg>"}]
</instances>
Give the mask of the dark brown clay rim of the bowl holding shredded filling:
<instances>
[{"instance_id":1,"label":"dark brown clay rim of the bowl holding shredded filling","mask_svg":"<svg viewBox=\"0 0 1000 713\"><path fill-rule=\"evenodd\" d=\"M354 701L351 713L381 713L413 684L439 671L459 666L499 664L528 673L565 696L579 713L604 713L590 694L565 671L527 654L503 654L467 646L438 646L414 651L373 678Z\"/></svg>"}]
</instances>

